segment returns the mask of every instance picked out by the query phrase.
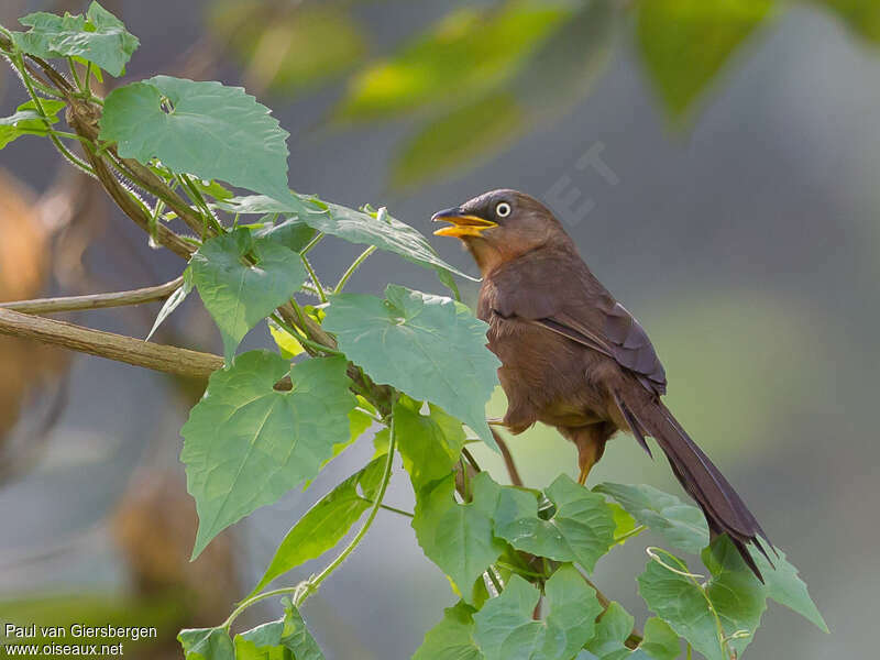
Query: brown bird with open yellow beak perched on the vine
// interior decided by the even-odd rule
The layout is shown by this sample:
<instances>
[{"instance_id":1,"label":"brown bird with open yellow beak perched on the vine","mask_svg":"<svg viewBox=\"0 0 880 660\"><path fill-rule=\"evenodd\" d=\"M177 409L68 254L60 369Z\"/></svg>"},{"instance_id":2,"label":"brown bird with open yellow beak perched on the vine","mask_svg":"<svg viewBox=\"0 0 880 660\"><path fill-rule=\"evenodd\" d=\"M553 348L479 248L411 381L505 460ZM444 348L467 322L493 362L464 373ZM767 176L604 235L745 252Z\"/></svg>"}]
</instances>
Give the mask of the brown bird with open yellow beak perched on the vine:
<instances>
[{"instance_id":1,"label":"brown bird with open yellow beak perched on the vine","mask_svg":"<svg viewBox=\"0 0 880 660\"><path fill-rule=\"evenodd\" d=\"M727 534L761 578L746 546L767 557L772 543L736 491L660 400L667 376L639 322L596 279L574 241L541 202L493 190L436 213L435 232L461 239L483 275L477 316L502 361L507 413L498 424L520 433L536 421L578 448L580 483L618 430L666 453L681 485ZM769 560L769 557L768 557Z\"/></svg>"}]
</instances>

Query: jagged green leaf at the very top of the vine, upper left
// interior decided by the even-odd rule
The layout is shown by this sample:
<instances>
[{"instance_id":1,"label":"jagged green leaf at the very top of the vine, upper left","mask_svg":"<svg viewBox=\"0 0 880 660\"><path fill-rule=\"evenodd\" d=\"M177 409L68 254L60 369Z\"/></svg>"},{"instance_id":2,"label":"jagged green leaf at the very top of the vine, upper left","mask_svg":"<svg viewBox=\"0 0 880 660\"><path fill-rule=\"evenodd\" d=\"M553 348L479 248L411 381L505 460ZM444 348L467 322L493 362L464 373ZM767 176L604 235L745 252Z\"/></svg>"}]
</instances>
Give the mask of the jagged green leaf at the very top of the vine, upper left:
<instances>
[{"instance_id":1,"label":"jagged green leaf at the very top of the vine, upper left","mask_svg":"<svg viewBox=\"0 0 880 660\"><path fill-rule=\"evenodd\" d=\"M111 76L121 76L140 41L125 25L97 2L86 15L64 16L36 12L19 19L28 32L13 32L15 45L37 57L81 57L92 62Z\"/></svg>"}]
</instances>

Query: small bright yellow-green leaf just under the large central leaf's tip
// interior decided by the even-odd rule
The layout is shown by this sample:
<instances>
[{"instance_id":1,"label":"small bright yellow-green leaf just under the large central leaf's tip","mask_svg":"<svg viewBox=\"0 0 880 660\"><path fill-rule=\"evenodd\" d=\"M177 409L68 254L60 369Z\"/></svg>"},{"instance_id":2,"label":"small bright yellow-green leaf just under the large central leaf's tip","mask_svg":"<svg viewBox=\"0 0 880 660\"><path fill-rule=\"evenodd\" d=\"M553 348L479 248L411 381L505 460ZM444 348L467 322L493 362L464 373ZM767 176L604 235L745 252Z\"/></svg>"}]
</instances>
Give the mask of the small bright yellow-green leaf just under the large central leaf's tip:
<instances>
[{"instance_id":1,"label":"small bright yellow-green leaf just under the large central leaf's tip","mask_svg":"<svg viewBox=\"0 0 880 660\"><path fill-rule=\"evenodd\" d=\"M429 410L421 415L419 403L409 397L400 397L394 405L397 448L417 494L452 471L466 440L458 419L432 404Z\"/></svg>"}]
</instances>

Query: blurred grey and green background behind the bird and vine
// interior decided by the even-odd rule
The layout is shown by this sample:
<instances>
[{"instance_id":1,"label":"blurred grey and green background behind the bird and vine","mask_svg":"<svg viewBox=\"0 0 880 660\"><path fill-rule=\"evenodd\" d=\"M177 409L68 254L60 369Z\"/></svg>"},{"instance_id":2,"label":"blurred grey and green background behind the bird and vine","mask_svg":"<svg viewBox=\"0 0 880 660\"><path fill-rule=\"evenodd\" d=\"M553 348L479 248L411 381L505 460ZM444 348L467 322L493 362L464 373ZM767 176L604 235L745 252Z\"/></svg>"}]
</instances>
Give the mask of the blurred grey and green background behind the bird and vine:
<instances>
[{"instance_id":1,"label":"blurred grey and green background behind the bird and vine","mask_svg":"<svg viewBox=\"0 0 880 660\"><path fill-rule=\"evenodd\" d=\"M219 79L270 106L292 133L300 193L386 205L424 233L433 211L491 188L547 202L647 328L669 406L801 569L832 629L773 604L747 656L876 654L880 3L105 7L141 38L125 80ZM36 10L85 3L4 0L0 23L20 29L15 18ZM0 67L0 116L23 100ZM457 242L432 243L475 273ZM332 279L359 252L324 241L315 262ZM148 286L182 267L47 141L25 136L0 152L0 299ZM380 293L387 282L442 290L430 272L382 254L353 287ZM472 302L475 285L462 287ZM195 298L157 341L218 351ZM69 318L144 337L157 307ZM270 344L261 327L244 349ZM226 618L298 516L372 454L362 439L307 492L261 509L189 564L195 510L178 430L202 387L0 339L0 619L155 625L162 639L127 657L177 657L177 630ZM546 429L510 444L527 485L575 474L573 447ZM505 480L488 452L479 459ZM628 437L591 475L601 481L681 494L666 462ZM389 499L411 509L400 471ZM628 542L595 576L640 620L634 578L653 541ZM383 512L304 615L331 660L397 659L454 601L408 520Z\"/></svg>"}]
</instances>

